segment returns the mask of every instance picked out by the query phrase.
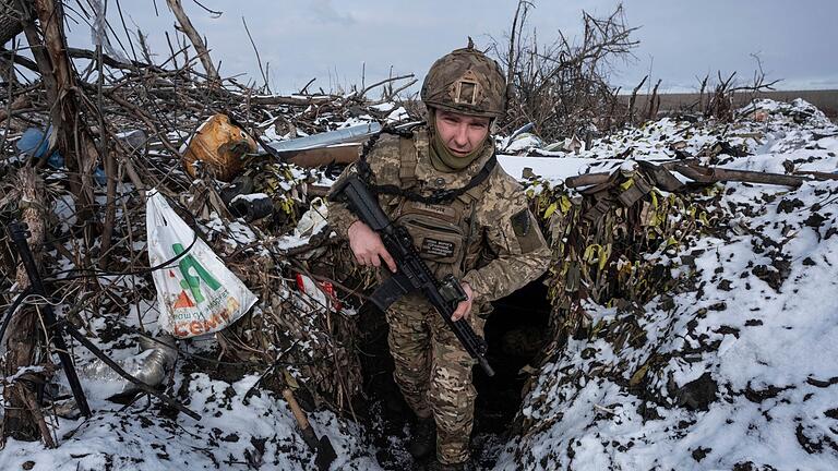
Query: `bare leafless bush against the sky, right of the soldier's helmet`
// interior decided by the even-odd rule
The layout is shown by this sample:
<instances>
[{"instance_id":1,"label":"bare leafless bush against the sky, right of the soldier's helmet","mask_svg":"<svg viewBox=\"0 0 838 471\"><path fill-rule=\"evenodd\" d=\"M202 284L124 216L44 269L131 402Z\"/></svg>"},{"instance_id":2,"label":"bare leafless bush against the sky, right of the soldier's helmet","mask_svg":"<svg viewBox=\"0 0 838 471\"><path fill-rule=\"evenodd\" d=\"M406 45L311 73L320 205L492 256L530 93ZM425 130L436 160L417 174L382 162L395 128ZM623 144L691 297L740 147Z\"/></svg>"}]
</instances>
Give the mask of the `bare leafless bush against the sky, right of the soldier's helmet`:
<instances>
[{"instance_id":1,"label":"bare leafless bush against the sky, right of the soldier's helmet","mask_svg":"<svg viewBox=\"0 0 838 471\"><path fill-rule=\"evenodd\" d=\"M527 31L534 9L534 2L520 0L506 44L493 39L490 46L512 85L502 129L508 133L532 122L538 135L556 141L621 125L625 113L618 106L619 89L608 84L609 73L638 44L631 36L636 28L625 24L622 5L604 17L583 12L579 38L560 31L547 45L539 44L535 31Z\"/></svg>"}]
</instances>

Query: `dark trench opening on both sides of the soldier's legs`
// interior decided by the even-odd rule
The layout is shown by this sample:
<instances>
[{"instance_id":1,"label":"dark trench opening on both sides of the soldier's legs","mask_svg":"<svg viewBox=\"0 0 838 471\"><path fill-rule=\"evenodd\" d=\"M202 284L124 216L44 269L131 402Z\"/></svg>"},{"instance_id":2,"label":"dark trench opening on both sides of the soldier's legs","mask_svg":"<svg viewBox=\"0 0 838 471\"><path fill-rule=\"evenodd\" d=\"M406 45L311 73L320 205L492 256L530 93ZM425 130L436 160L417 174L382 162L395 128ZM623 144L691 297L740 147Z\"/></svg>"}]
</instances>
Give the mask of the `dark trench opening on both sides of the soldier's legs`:
<instances>
[{"instance_id":1,"label":"dark trench opening on both sides of the soldier's legs","mask_svg":"<svg viewBox=\"0 0 838 471\"><path fill-rule=\"evenodd\" d=\"M536 360L549 331L550 303L543 279L530 282L492 305L494 312L486 323L484 336L489 343L487 359L495 375L489 377L480 367L474 369L477 401L471 457L475 469L493 466L501 446L506 443L512 422L520 409L522 390L527 379L522 369ZM363 326L359 348L367 400L356 410L362 411L371 439L379 449L376 458L382 468L424 469L427 461L415 462L406 449L415 418L393 381L384 314L374 307L364 307L359 315Z\"/></svg>"}]
</instances>

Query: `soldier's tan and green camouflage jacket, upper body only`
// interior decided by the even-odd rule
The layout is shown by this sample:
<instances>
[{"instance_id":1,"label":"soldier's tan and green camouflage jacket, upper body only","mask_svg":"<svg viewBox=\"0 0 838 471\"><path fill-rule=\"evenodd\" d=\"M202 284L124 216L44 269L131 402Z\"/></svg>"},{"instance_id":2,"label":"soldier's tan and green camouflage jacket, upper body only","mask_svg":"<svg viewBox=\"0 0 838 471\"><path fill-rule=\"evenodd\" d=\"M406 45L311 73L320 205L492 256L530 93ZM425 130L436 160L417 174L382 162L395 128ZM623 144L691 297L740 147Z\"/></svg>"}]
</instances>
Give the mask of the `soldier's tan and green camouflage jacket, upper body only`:
<instances>
[{"instance_id":1,"label":"soldier's tan and green camouflage jacket, upper body only","mask_svg":"<svg viewBox=\"0 0 838 471\"><path fill-rule=\"evenodd\" d=\"M415 129L412 138L383 134L367 156L374 184L403 189L409 185L411 191L420 194L430 194L438 189L459 189L483 168L494 153L492 146L487 146L483 154L466 169L445 173L433 167L428 150L427 128ZM339 179L356 171L356 165L349 166ZM463 216L454 217L452 222L466 227L465 233L459 237L464 239L465 256L459 269L454 267L447 270L468 282L478 305L503 298L537 279L550 262L550 249L536 218L529 212L520 184L503 171L500 165L494 167L489 178L451 204L422 205L390 194L381 194L379 203L384 213L397 224L407 219L403 226L414 237L417 250L423 257L426 253L444 256L447 245L436 240L420 243L423 234L415 231L409 224L410 215L406 214L459 213ZM408 206L411 208L407 209ZM349 226L358 220L345 204L335 202L330 203L327 219L342 238L347 238ZM440 276L440 264L432 258L427 262ZM442 267L442 271L445 269Z\"/></svg>"}]
</instances>

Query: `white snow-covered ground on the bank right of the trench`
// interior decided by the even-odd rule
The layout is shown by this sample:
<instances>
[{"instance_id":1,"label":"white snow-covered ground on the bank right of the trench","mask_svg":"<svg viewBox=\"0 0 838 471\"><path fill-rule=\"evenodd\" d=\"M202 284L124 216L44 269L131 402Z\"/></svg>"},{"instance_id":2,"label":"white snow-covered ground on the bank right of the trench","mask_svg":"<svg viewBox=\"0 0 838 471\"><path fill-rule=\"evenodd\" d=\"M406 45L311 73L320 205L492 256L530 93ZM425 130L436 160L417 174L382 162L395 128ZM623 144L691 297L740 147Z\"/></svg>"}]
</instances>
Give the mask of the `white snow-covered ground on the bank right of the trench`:
<instances>
[{"instance_id":1,"label":"white snow-covered ground on the bank right of the trench","mask_svg":"<svg viewBox=\"0 0 838 471\"><path fill-rule=\"evenodd\" d=\"M794 105L785 109L806 108ZM755 155L723 157L725 167L836 171L838 128L765 108L777 112L769 122L731 130L763 134L731 143ZM635 156L659 156L678 129L663 120L633 132ZM687 148L709 142L697 133ZM725 237L673 257L697 290L639 314L589 305L600 331L636 322L646 341L571 338L524 401L536 425L496 469L838 469L838 182L728 183L723 194Z\"/></svg>"}]
</instances>

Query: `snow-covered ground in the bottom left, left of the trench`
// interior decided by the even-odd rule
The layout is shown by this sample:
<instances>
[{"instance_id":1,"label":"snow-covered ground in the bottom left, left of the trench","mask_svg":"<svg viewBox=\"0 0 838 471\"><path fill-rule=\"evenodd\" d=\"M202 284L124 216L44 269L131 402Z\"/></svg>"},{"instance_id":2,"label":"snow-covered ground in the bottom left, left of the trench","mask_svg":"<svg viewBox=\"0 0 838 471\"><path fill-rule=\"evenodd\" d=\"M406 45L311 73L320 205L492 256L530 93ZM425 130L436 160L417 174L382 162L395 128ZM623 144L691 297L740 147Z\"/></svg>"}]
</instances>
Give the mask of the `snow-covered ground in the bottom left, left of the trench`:
<instances>
[{"instance_id":1,"label":"snow-covered ground in the bottom left, left of the trench","mask_svg":"<svg viewBox=\"0 0 838 471\"><path fill-rule=\"evenodd\" d=\"M189 407L202 415L200 422L182 415L163 418L156 407L146 410L142 401L124 411L119 404L94 401L91 406L96 412L89 420L60 422L56 435L61 446L57 449L10 439L0 454L0 469L312 469L314 457L284 399L263 391L246 398L256 379L249 375L227 383L193 373L187 394ZM145 419L137 420L140 415ZM326 433L337 451L333 469L380 469L360 452L363 444L356 438L360 434L355 425L342 423L328 412L309 419L315 434ZM31 468L24 467L26 462Z\"/></svg>"}]
</instances>

